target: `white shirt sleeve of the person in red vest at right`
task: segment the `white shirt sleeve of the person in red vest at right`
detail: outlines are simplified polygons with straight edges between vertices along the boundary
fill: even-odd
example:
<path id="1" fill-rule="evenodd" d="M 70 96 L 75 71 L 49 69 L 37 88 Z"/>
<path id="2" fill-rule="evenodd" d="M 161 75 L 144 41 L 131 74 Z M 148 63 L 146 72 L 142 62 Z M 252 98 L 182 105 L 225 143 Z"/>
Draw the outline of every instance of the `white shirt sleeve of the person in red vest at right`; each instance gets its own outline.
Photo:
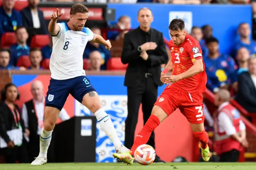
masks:
<path id="1" fill-rule="evenodd" d="M 236 128 L 233 126 L 230 118 L 228 117 L 228 115 L 226 115 L 226 113 L 220 112 L 218 116 L 218 121 L 219 125 L 223 127 L 227 135 L 230 136 L 236 133 Z"/>

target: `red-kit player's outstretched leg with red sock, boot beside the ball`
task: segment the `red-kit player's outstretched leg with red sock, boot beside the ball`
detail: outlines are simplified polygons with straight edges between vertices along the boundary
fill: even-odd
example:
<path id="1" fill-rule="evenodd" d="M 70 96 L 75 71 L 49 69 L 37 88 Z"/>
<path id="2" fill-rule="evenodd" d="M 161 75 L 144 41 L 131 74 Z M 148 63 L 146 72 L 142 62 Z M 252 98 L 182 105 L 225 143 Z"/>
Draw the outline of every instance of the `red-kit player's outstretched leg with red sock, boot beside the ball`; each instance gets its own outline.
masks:
<path id="1" fill-rule="evenodd" d="M 164 110 L 161 107 L 154 105 L 151 116 L 149 117 L 148 121 L 146 122 L 142 130 L 140 130 L 140 132 L 136 135 L 134 144 L 132 145 L 130 152 L 113 154 L 114 158 L 118 158 L 127 164 L 128 162 L 131 162 L 130 160 L 133 158 L 132 156 L 134 156 L 134 151 L 136 150 L 136 148 L 142 144 L 146 144 L 151 133 L 167 117 L 168 115 L 164 112 Z"/>

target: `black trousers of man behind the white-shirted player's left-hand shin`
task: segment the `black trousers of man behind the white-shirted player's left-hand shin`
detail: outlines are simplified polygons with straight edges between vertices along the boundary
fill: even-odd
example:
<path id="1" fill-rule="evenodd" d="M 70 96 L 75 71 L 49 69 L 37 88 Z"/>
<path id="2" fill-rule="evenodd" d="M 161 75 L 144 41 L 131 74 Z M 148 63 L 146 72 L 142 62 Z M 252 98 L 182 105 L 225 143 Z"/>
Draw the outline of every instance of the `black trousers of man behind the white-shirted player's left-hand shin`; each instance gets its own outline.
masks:
<path id="1" fill-rule="evenodd" d="M 34 135 L 35 137 L 30 138 L 30 142 L 28 143 L 27 150 L 28 150 L 28 158 L 29 162 L 33 162 L 35 158 L 38 156 L 40 152 L 40 136 Z M 54 162 L 54 149 L 53 149 L 53 141 L 47 151 L 47 162 Z"/>

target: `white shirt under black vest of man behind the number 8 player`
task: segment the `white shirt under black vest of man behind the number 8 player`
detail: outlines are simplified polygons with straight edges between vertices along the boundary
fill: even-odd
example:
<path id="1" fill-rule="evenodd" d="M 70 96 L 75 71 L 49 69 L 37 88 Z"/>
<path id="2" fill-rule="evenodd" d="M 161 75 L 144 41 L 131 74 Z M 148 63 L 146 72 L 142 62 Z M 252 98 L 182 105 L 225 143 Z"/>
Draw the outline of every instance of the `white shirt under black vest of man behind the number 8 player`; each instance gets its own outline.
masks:
<path id="1" fill-rule="evenodd" d="M 43 98 L 43 101 L 41 101 L 41 102 L 34 100 L 35 107 L 36 107 L 34 109 L 36 109 L 36 113 L 37 113 L 37 117 L 38 117 L 38 130 L 37 130 L 38 135 L 40 135 L 41 131 L 42 131 L 42 126 L 40 126 L 40 123 L 44 122 L 44 107 L 45 107 L 44 101 L 45 101 L 45 97 Z M 70 119 L 70 116 L 68 115 L 68 113 L 66 112 L 65 109 L 62 109 L 60 111 L 59 118 L 62 121 L 66 121 L 66 120 Z M 28 128 L 28 110 L 27 110 L 25 103 L 23 104 L 23 107 L 22 107 L 22 119 L 24 120 L 25 127 Z"/>

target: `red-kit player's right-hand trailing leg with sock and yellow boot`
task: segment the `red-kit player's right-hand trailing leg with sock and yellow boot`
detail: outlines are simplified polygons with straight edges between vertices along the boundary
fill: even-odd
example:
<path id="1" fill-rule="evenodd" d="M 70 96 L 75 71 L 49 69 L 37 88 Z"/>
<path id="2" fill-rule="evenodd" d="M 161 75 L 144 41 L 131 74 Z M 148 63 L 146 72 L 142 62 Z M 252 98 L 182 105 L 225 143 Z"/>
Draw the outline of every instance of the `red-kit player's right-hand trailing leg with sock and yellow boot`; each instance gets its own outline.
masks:
<path id="1" fill-rule="evenodd" d="M 201 150 L 202 150 L 202 158 L 204 161 L 209 161 L 210 160 L 210 150 L 207 145 L 208 143 L 208 133 L 204 130 L 204 123 L 200 124 L 191 124 L 192 131 L 194 134 L 194 137 L 196 140 L 200 142 Z"/>

